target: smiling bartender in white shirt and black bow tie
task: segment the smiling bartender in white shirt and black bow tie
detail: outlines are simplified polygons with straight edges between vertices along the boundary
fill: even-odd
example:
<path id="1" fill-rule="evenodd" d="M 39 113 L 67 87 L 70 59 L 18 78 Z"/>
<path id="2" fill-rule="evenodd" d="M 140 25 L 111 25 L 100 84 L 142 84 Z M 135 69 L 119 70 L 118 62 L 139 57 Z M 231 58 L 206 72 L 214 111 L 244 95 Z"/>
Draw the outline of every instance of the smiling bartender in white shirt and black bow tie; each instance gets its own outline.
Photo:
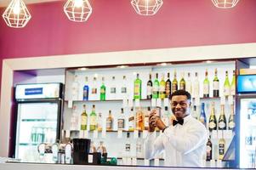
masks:
<path id="1" fill-rule="evenodd" d="M 172 125 L 167 127 L 156 110 L 151 111 L 149 135 L 145 139 L 145 158 L 152 159 L 165 150 L 165 166 L 202 167 L 208 133 L 202 122 L 190 115 L 191 94 L 177 90 L 170 99 L 176 120 L 172 120 Z M 157 138 L 153 133 L 155 127 L 162 131 Z"/>

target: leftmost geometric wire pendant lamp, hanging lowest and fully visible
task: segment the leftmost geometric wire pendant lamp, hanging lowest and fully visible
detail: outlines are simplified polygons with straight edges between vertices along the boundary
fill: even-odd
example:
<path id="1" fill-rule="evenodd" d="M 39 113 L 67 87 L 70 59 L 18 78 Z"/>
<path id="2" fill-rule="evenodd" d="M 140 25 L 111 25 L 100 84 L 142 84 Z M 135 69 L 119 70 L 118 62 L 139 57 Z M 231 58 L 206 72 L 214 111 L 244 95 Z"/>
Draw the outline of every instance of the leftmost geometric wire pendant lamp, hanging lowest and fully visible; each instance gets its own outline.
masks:
<path id="1" fill-rule="evenodd" d="M 3 13 L 3 20 L 7 26 L 22 28 L 31 20 L 31 14 L 22 0 L 12 0 Z"/>

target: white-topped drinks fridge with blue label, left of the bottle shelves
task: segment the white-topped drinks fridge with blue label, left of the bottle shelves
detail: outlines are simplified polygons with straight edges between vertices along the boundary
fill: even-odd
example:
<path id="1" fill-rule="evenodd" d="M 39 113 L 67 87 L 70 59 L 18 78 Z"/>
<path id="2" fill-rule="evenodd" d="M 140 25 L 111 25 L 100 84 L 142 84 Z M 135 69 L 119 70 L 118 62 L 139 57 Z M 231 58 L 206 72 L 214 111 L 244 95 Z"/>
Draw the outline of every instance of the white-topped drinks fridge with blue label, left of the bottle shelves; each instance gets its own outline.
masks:
<path id="1" fill-rule="evenodd" d="M 18 84 L 15 100 L 14 156 L 23 162 L 38 162 L 37 145 L 60 139 L 63 84 Z"/>

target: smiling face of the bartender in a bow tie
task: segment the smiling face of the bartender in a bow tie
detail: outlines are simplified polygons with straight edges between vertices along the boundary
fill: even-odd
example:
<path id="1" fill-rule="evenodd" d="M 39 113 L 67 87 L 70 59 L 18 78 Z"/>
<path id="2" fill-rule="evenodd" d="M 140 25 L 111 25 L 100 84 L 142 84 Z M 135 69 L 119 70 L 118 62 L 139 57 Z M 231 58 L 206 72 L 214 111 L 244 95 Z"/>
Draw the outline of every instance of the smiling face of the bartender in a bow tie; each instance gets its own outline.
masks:
<path id="1" fill-rule="evenodd" d="M 182 119 L 189 114 L 191 101 L 185 95 L 173 96 L 171 108 L 177 119 Z"/>

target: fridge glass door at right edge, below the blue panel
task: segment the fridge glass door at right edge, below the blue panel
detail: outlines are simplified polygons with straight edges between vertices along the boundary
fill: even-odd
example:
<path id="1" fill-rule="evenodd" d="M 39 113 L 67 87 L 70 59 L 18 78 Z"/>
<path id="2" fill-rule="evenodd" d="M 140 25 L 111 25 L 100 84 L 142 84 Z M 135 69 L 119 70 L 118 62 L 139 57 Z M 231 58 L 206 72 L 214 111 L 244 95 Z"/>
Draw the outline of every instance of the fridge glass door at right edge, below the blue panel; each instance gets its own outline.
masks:
<path id="1" fill-rule="evenodd" d="M 255 168 L 256 99 L 241 99 L 240 167 Z"/>

